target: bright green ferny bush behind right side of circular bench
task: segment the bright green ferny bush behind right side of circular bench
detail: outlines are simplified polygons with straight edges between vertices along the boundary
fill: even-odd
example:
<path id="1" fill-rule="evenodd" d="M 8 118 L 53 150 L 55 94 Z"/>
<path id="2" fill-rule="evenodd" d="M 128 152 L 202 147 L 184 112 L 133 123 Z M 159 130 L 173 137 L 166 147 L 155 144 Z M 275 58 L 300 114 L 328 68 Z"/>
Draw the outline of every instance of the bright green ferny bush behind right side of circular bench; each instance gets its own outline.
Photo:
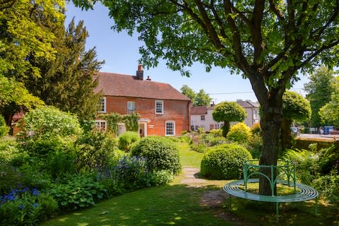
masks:
<path id="1" fill-rule="evenodd" d="M 287 150 L 285 160 L 295 162 L 297 180 L 303 184 L 311 185 L 319 177 L 319 154 L 309 150 Z"/>

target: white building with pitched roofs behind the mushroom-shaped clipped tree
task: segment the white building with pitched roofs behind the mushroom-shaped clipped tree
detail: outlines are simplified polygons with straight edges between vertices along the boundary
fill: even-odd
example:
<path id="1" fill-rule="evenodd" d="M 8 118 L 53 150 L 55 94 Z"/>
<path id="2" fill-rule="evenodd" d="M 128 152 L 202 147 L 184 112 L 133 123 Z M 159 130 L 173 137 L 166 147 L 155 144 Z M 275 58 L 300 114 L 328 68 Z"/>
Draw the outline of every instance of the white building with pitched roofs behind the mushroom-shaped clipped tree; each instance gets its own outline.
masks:
<path id="1" fill-rule="evenodd" d="M 237 100 L 237 104 L 242 106 L 247 116 L 244 123 L 247 126 L 253 126 L 260 121 L 259 117 L 259 104 L 257 102 L 251 102 L 249 100 Z M 205 131 L 211 129 L 220 129 L 223 126 L 223 122 L 217 122 L 213 120 L 214 103 L 210 107 L 196 106 L 191 107 L 191 131 L 196 131 L 198 128 L 203 128 Z"/>

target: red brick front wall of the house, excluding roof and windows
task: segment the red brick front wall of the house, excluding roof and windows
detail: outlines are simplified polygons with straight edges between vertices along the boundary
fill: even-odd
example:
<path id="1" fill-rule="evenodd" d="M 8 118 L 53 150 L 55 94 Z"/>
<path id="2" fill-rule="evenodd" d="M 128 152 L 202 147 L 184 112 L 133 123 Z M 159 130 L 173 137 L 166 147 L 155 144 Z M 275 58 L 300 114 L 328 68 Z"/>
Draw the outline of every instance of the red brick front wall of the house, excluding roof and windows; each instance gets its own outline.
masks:
<path id="1" fill-rule="evenodd" d="M 190 114 L 189 101 L 184 100 L 162 100 L 164 103 L 164 114 L 155 114 L 155 99 L 141 99 L 133 97 L 106 97 L 107 114 L 117 112 L 127 114 L 127 101 L 136 103 L 136 112 L 141 119 L 148 119 L 147 135 L 165 136 L 165 122 L 175 121 L 175 136 L 181 131 L 189 130 Z"/>

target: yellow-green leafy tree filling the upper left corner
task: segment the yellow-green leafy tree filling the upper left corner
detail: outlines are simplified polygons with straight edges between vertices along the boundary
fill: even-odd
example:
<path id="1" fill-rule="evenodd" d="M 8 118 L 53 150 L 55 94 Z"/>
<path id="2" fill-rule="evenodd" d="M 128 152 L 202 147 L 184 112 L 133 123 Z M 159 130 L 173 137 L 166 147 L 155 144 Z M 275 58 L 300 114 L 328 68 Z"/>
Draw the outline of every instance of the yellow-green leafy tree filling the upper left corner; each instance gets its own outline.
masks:
<path id="1" fill-rule="evenodd" d="M 28 74 L 40 76 L 39 69 L 27 60 L 28 55 L 44 56 L 49 61 L 54 59 L 52 41 L 55 36 L 42 22 L 48 19 L 62 25 L 64 6 L 64 0 L 0 3 L 0 113 L 8 126 L 16 112 L 43 105 L 20 81 L 28 78 Z"/>

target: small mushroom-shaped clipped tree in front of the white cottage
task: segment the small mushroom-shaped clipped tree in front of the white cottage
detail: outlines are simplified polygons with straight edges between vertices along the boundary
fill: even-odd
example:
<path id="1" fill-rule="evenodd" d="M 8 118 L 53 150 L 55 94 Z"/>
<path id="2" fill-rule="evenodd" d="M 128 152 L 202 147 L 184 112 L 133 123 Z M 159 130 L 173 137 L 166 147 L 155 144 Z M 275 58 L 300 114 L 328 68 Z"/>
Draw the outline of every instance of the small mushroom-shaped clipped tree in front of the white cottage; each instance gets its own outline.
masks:
<path id="1" fill-rule="evenodd" d="M 228 131 L 230 131 L 230 122 L 244 121 L 246 112 L 244 108 L 236 102 L 221 102 L 218 105 L 215 105 L 212 116 L 215 121 L 224 122 L 224 126 L 222 126 L 222 135 L 226 137 Z"/>

